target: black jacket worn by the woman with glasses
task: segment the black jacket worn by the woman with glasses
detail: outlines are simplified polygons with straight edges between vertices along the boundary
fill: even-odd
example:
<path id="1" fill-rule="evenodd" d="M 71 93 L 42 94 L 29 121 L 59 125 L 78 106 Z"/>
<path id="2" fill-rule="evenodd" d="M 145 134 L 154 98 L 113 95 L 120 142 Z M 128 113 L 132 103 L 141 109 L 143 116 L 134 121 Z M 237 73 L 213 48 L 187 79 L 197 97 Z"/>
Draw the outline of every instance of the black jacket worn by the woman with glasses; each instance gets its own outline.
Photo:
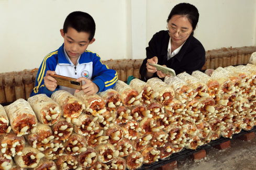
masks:
<path id="1" fill-rule="evenodd" d="M 142 80 L 144 80 L 146 75 L 147 60 L 154 56 L 158 57 L 159 65 L 166 65 L 167 67 L 174 69 L 176 75 L 183 71 L 186 71 L 191 75 L 193 71 L 202 69 L 205 64 L 205 49 L 201 42 L 190 35 L 185 44 L 181 47 L 180 52 L 167 60 L 169 41 L 170 36 L 168 31 L 160 31 L 153 35 L 153 38 L 149 42 L 149 46 L 146 48 L 147 58 L 143 60 L 140 67 Z M 156 72 L 153 77 L 158 77 Z"/>

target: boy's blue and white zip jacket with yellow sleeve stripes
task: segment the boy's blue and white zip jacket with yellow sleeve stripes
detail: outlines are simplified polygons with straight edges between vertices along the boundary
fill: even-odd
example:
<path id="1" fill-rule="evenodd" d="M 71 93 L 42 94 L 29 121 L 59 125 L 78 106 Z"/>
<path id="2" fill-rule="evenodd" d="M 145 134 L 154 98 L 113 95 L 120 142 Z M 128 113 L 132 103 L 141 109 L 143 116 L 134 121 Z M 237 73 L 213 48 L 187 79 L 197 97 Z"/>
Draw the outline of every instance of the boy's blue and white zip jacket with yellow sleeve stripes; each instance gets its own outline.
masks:
<path id="1" fill-rule="evenodd" d="M 102 64 L 101 57 L 91 51 L 85 51 L 81 54 L 79 64 L 74 66 L 70 64 L 64 54 L 64 44 L 59 50 L 54 51 L 44 57 L 43 62 L 38 70 L 35 88 L 31 91 L 30 96 L 44 93 L 51 96 L 54 91 L 49 91 L 45 84 L 43 77 L 46 76 L 46 71 L 55 71 L 57 75 L 87 79 L 93 79 L 93 82 L 99 87 L 99 92 L 113 88 L 117 81 L 117 72 L 109 69 L 107 65 Z M 85 82 L 83 81 L 83 84 Z M 66 90 L 74 94 L 75 89 L 58 86 L 56 90 Z"/>

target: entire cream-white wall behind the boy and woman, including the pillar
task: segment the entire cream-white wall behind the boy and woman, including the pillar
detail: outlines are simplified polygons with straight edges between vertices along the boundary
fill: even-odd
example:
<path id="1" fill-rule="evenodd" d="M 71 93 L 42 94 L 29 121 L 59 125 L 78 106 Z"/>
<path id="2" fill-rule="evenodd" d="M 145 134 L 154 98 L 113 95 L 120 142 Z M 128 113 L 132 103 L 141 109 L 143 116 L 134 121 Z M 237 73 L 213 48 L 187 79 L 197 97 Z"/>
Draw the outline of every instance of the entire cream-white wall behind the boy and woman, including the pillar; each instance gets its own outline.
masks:
<path id="1" fill-rule="evenodd" d="M 96 22 L 88 50 L 103 60 L 144 58 L 153 34 L 166 30 L 172 0 L 0 0 L 0 72 L 39 67 L 63 43 L 60 29 L 81 10 Z M 190 0 L 199 11 L 194 36 L 205 50 L 256 45 L 255 0 Z"/>

